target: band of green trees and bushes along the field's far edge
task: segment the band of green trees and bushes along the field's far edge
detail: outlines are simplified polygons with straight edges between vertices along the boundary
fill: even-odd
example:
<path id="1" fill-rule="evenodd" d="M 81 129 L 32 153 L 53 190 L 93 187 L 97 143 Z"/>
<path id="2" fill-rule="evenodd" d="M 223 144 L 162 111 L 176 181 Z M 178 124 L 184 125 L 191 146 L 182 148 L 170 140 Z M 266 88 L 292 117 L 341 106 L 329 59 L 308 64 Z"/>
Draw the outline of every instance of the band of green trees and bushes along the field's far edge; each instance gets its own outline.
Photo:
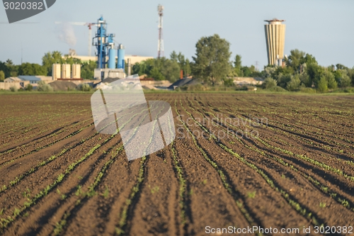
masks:
<path id="1" fill-rule="evenodd" d="M 215 34 L 202 37 L 195 45 L 195 56 L 190 61 L 179 52 L 173 51 L 169 58 L 149 59 L 132 65 L 132 74 L 143 75 L 155 80 L 169 80 L 175 82 L 181 76 L 200 79 L 205 84 L 215 86 L 224 84 L 233 86 L 234 77 L 261 77 L 265 89 L 282 88 L 297 91 L 302 88 L 315 88 L 319 91 L 333 90 L 338 87 L 354 86 L 354 67 L 348 68 L 343 64 L 323 67 L 318 64 L 313 55 L 300 50 L 291 50 L 290 56 L 285 58 L 285 67 L 272 65 L 265 66 L 262 71 L 256 67 L 243 66 L 241 55 L 230 60 L 232 53 L 230 43 Z M 60 52 L 47 52 L 42 57 L 42 65 L 23 63 L 14 65 L 11 60 L 0 62 L 0 80 L 17 75 L 52 75 L 52 64 L 67 63 L 81 64 L 81 77 L 93 79 L 93 69 L 96 62 L 81 62 L 74 57 L 64 56 Z M 127 67 L 125 67 L 127 72 Z"/>

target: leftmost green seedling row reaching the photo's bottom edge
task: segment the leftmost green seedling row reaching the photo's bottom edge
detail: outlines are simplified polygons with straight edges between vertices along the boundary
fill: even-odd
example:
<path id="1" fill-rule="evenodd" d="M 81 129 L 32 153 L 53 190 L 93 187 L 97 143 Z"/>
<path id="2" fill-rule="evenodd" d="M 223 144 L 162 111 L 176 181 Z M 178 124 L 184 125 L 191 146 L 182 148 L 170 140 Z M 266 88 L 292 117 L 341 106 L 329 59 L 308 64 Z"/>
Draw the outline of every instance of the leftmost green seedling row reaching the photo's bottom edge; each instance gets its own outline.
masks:
<path id="1" fill-rule="evenodd" d="M 132 111 L 134 112 L 134 111 Z M 142 111 L 143 112 L 143 111 Z M 139 114 L 141 114 L 142 112 L 140 112 Z M 138 114 L 135 114 L 135 116 L 137 116 Z M 135 116 L 132 116 L 130 118 L 130 120 L 132 120 L 132 118 L 134 118 Z M 147 116 L 147 115 L 146 115 Z M 144 118 L 146 118 L 146 116 Z M 122 117 L 122 116 L 120 116 Z M 144 118 L 142 120 L 144 120 Z M 119 119 L 119 118 L 118 118 Z M 118 120 L 117 119 L 117 120 Z M 128 120 L 125 124 L 122 125 L 122 127 L 119 129 L 121 130 L 122 128 L 125 127 L 125 125 L 127 123 L 130 122 L 130 120 Z M 142 123 L 142 120 L 140 121 L 140 124 Z M 139 124 L 139 125 L 140 125 Z M 138 125 L 138 126 L 139 126 Z M 137 126 L 137 128 L 138 128 Z M 132 133 L 132 136 L 128 139 L 128 142 L 129 140 L 131 140 L 133 137 L 135 137 L 135 134 L 136 134 L 136 131 L 137 131 L 137 128 L 135 128 L 135 130 L 133 130 L 133 133 Z M 67 220 L 70 216 L 72 216 L 72 211 L 77 207 L 79 206 L 79 203 L 81 203 L 81 201 L 83 201 L 84 199 L 88 198 L 88 197 L 92 197 L 92 196 L 95 196 L 96 195 L 96 187 L 98 186 L 98 184 L 101 182 L 101 179 L 103 178 L 103 175 L 105 174 L 105 171 L 110 167 L 111 164 L 113 164 L 113 162 L 115 161 L 115 157 L 117 157 L 118 153 L 122 152 L 122 150 L 124 149 L 124 146 L 123 145 L 120 145 L 120 147 L 117 148 L 116 150 L 116 153 L 112 152 L 112 157 L 108 160 L 108 162 L 105 162 L 105 164 L 103 165 L 102 169 L 101 169 L 101 172 L 98 173 L 98 175 L 96 176 L 95 178 L 95 181 L 93 182 L 93 184 L 91 184 L 88 188 L 88 191 L 85 193 L 85 192 L 82 192 L 81 191 L 81 186 L 78 186 L 78 190 L 76 191 L 76 196 L 79 196 L 79 199 L 76 201 L 76 205 L 73 206 L 72 210 L 68 211 L 67 210 L 67 213 L 65 213 L 62 217 L 61 220 L 59 220 L 59 222 L 57 222 L 56 226 L 55 226 L 55 229 L 53 230 L 53 235 L 59 235 L 62 230 L 64 230 L 64 226 L 66 225 L 67 223 Z M 103 196 L 108 196 L 108 188 L 106 187 L 106 190 L 105 190 L 105 193 L 103 193 Z"/>

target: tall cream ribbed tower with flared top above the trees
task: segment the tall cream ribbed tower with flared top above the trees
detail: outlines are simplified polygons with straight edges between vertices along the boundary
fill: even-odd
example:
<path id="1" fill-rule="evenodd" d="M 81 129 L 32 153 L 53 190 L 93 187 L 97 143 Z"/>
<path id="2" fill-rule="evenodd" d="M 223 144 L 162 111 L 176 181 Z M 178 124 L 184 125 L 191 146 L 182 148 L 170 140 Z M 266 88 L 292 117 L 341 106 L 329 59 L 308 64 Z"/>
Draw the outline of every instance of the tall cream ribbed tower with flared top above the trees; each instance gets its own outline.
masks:
<path id="1" fill-rule="evenodd" d="M 265 42 L 267 44 L 268 64 L 282 66 L 285 46 L 285 24 L 284 20 L 265 20 L 268 22 L 264 26 Z"/>

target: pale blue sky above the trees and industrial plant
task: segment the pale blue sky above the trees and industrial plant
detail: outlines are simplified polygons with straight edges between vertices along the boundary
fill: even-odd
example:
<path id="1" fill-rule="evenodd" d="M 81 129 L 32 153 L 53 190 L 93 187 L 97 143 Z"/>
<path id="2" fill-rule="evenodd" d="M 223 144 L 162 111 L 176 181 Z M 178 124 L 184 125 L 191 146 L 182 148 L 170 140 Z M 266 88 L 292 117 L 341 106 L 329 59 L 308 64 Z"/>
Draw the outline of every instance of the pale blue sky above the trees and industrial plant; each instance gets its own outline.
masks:
<path id="1" fill-rule="evenodd" d="M 62 26 L 55 21 L 96 22 L 101 15 L 108 22 L 108 33 L 125 45 L 129 55 L 157 55 L 157 5 L 164 5 L 164 55 L 173 50 L 190 58 L 202 36 L 215 33 L 231 43 L 232 60 L 242 56 L 244 65 L 267 64 L 264 20 L 285 20 L 285 55 L 299 49 L 314 55 L 319 64 L 341 63 L 354 66 L 354 1 L 166 1 L 166 0 L 57 0 L 47 11 L 22 22 L 6 24 L 0 8 L 0 60 L 41 63 L 45 52 L 67 53 L 72 47 L 78 55 L 87 55 L 88 29 L 72 26 L 75 45 L 60 40 Z M 93 33 L 96 27 L 93 27 Z M 70 30 L 70 29 L 69 29 Z"/>

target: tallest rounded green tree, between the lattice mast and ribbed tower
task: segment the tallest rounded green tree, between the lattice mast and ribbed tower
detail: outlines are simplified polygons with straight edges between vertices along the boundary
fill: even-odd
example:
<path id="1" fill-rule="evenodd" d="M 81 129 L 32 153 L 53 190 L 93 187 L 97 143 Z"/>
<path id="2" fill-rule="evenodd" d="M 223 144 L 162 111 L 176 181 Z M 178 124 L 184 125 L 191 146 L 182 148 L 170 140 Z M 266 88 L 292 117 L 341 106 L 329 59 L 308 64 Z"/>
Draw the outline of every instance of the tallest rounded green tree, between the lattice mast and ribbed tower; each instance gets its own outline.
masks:
<path id="1" fill-rule="evenodd" d="M 230 64 L 230 43 L 215 34 L 202 37 L 195 45 L 196 53 L 193 57 L 193 75 L 203 79 L 213 86 L 227 77 Z"/>

